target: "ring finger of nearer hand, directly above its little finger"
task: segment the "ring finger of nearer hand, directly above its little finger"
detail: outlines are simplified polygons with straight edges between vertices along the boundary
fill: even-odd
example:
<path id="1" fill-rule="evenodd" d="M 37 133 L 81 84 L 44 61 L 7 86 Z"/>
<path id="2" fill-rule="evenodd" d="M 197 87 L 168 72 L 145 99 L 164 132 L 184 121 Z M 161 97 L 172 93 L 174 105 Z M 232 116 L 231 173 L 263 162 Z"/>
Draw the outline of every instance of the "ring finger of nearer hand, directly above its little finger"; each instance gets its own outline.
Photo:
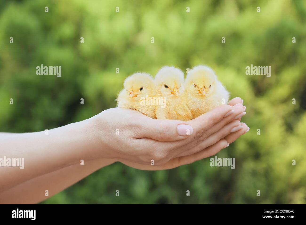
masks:
<path id="1" fill-rule="evenodd" d="M 194 154 L 196 152 L 200 152 L 204 148 L 207 148 L 208 146 L 211 146 L 211 145 L 217 143 L 220 139 L 226 137 L 230 133 L 234 133 L 234 132 L 236 132 L 236 131 L 238 131 L 242 128 L 243 128 L 243 126 L 241 125 L 241 123 L 238 120 L 233 120 L 232 122 L 223 126 L 217 132 L 211 134 L 209 137 L 207 137 L 206 140 L 200 141 L 200 142 L 194 144 L 194 147 L 188 149 L 187 151 L 176 154 L 175 157 L 188 156 L 188 155 Z"/>

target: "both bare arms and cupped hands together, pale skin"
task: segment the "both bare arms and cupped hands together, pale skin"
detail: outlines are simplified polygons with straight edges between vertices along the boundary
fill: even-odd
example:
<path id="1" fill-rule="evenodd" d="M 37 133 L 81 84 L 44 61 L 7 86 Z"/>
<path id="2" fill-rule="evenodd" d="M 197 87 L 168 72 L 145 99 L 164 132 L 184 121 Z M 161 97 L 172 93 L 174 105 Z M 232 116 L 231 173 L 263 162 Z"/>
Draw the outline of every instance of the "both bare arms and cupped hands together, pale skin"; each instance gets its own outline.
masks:
<path id="1" fill-rule="evenodd" d="M 241 102 L 234 98 L 187 122 L 112 108 L 48 135 L 0 133 L 0 157 L 24 158 L 24 169 L 0 167 L 5 181 L 0 183 L 0 203 L 38 203 L 117 161 L 140 170 L 163 170 L 213 156 L 248 131 L 240 122 L 245 111 Z M 184 125 L 190 126 L 189 134 Z"/>

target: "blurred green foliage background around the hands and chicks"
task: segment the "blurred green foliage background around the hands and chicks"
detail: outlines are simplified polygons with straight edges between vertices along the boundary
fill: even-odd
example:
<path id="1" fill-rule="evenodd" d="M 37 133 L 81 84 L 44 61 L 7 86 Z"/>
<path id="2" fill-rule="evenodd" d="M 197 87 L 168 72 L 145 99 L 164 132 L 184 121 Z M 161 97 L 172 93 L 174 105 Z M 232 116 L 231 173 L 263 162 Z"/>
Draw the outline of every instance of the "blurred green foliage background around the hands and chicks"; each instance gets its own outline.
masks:
<path id="1" fill-rule="evenodd" d="M 114 163 L 43 203 L 306 203 L 305 24 L 303 0 L 0 0 L 0 131 L 84 120 L 115 107 L 134 72 L 206 64 L 247 107 L 250 131 L 217 154 L 234 170 L 209 158 L 166 171 Z M 62 77 L 36 75 L 41 64 Z M 251 64 L 271 77 L 246 75 Z"/>

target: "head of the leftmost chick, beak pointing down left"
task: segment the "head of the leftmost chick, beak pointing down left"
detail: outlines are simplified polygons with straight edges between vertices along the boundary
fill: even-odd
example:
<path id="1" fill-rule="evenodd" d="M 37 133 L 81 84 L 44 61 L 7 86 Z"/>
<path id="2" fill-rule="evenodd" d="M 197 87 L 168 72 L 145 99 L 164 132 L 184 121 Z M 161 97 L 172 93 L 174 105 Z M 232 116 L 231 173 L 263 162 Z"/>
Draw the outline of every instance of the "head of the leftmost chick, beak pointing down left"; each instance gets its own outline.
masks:
<path id="1" fill-rule="evenodd" d="M 139 101 L 140 98 L 151 96 L 155 92 L 153 78 L 148 73 L 134 73 L 124 81 L 126 96 L 131 101 Z"/>

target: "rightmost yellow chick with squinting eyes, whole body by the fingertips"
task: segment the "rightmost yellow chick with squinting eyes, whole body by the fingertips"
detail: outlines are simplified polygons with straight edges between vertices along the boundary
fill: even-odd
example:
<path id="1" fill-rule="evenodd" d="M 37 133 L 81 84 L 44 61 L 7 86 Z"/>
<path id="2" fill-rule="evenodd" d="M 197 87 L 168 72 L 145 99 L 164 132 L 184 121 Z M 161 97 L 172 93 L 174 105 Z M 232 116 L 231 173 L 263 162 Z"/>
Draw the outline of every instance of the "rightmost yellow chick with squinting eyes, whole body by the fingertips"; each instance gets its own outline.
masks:
<path id="1" fill-rule="evenodd" d="M 229 99 L 229 92 L 208 66 L 192 68 L 187 74 L 185 88 L 188 95 L 187 105 L 192 118 L 196 118 L 221 104 L 227 104 Z"/>

